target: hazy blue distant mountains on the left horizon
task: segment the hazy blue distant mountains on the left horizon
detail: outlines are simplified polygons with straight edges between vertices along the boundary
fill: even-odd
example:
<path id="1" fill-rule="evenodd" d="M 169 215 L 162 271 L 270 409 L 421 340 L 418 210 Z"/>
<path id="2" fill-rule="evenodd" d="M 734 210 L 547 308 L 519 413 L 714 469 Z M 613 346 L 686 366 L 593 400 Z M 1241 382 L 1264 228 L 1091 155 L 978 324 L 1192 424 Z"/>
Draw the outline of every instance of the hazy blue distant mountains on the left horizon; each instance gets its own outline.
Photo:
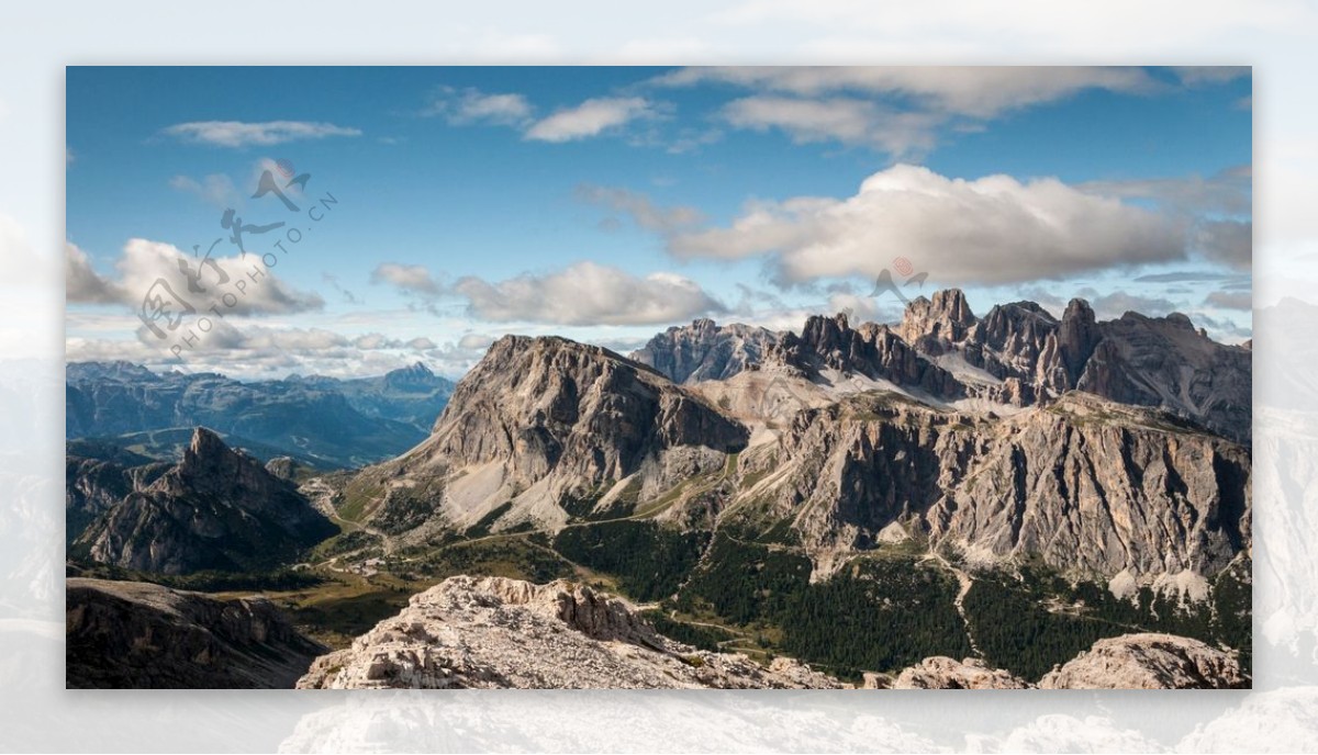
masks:
<path id="1" fill-rule="evenodd" d="M 261 459 L 360 466 L 424 440 L 452 390 L 451 381 L 420 364 L 374 378 L 240 382 L 215 373 L 158 374 L 128 362 L 72 362 L 65 431 L 70 439 L 117 439 L 138 453 L 177 459 L 191 428 L 203 426 Z"/>

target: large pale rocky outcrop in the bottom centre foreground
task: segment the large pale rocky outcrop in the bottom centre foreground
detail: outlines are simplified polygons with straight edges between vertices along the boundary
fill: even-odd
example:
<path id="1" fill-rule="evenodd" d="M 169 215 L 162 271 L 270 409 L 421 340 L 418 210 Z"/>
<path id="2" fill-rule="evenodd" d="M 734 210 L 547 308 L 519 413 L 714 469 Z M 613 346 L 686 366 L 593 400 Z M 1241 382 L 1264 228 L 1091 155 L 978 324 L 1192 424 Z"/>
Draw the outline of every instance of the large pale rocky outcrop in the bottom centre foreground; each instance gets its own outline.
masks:
<path id="1" fill-rule="evenodd" d="M 676 643 L 589 588 L 465 576 L 413 596 L 298 681 L 301 689 L 840 686 L 787 659 L 766 668 Z"/>

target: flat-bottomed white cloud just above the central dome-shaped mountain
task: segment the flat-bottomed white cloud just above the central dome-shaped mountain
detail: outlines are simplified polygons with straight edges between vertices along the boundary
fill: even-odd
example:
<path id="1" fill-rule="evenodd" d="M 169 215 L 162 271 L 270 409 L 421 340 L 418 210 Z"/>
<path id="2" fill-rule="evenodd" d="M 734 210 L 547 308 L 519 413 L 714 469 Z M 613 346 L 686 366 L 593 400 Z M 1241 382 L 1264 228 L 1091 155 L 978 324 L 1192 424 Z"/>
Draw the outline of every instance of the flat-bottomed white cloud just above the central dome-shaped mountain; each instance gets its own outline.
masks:
<path id="1" fill-rule="evenodd" d="M 471 314 L 492 322 L 560 325 L 664 324 L 722 312 L 724 306 L 697 283 L 671 273 L 638 278 L 606 265 L 579 262 L 564 270 L 523 274 L 497 283 L 461 278 L 453 291 Z"/>

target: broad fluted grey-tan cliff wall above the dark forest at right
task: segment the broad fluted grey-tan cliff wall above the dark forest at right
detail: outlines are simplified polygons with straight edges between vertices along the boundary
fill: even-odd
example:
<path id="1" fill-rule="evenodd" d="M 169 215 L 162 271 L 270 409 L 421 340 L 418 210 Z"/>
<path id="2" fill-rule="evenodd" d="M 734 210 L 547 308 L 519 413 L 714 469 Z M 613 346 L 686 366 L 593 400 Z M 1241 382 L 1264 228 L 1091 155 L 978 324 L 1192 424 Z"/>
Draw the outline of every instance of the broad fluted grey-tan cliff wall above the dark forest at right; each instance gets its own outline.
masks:
<path id="1" fill-rule="evenodd" d="M 1246 448 L 1085 394 L 996 420 L 863 395 L 797 414 L 747 497 L 825 572 L 899 524 L 981 560 L 1211 574 L 1248 547 L 1248 477 Z"/>

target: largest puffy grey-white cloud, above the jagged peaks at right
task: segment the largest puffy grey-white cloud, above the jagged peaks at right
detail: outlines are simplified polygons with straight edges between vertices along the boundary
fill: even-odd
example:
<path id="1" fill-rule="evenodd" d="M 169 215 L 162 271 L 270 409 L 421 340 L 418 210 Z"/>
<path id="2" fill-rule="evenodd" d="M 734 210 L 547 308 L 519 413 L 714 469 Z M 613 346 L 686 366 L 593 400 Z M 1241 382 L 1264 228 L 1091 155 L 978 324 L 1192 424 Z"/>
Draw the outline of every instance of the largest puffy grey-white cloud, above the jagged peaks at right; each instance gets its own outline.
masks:
<path id="1" fill-rule="evenodd" d="M 996 285 L 1180 260 L 1186 229 L 1052 178 L 966 181 L 898 165 L 851 198 L 755 203 L 731 225 L 680 233 L 668 248 L 684 258 L 763 256 L 783 283 L 875 277 L 903 256 L 941 285 Z"/>

